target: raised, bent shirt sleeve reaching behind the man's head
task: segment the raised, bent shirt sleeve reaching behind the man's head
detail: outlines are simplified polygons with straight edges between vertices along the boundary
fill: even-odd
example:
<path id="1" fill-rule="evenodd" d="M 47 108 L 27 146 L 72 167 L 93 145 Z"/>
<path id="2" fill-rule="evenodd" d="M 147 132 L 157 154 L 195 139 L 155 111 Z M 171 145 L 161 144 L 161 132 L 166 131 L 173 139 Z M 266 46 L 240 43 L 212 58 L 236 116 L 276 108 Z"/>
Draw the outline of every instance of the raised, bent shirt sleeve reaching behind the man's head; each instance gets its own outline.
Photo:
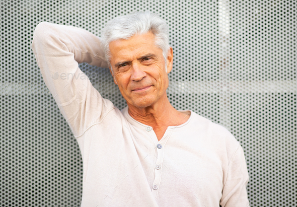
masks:
<path id="1" fill-rule="evenodd" d="M 108 67 L 100 37 L 78 27 L 41 22 L 34 30 L 32 50 L 43 80 L 75 137 L 113 108 L 79 68 L 81 62 Z"/>

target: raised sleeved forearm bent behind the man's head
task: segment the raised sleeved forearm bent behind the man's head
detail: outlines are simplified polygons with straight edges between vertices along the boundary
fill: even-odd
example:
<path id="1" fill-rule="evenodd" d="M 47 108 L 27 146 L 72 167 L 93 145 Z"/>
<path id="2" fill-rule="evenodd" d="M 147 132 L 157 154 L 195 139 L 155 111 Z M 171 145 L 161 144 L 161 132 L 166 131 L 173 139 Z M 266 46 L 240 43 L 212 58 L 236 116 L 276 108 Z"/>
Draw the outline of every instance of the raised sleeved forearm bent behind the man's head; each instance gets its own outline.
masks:
<path id="1" fill-rule="evenodd" d="M 108 67 L 101 38 L 78 27 L 41 22 L 34 31 L 32 49 L 35 55 L 55 58 L 68 51 L 78 63 Z"/>

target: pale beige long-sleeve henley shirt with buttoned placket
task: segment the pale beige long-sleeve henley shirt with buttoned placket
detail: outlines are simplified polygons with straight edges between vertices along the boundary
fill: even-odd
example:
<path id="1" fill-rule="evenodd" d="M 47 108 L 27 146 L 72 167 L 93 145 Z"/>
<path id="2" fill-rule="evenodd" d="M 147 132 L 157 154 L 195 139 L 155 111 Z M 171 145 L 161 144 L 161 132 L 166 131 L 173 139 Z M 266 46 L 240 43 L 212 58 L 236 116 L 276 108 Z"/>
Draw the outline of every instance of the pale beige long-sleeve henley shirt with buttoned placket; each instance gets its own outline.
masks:
<path id="1" fill-rule="evenodd" d="M 187 122 L 169 126 L 158 141 L 154 128 L 104 99 L 80 70 L 81 62 L 107 67 L 100 43 L 84 29 L 47 22 L 32 42 L 82 153 L 82 206 L 247 207 L 249 175 L 235 137 L 186 110 Z"/>

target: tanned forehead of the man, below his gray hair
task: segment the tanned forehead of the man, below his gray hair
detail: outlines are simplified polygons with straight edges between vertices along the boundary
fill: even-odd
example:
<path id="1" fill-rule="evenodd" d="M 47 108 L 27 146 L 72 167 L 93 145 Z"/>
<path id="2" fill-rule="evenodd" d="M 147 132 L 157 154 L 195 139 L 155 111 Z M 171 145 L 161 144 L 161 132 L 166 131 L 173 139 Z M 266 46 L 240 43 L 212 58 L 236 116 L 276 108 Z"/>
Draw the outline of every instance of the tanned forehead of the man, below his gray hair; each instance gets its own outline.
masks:
<path id="1" fill-rule="evenodd" d="M 109 49 L 111 62 L 130 61 L 129 58 L 137 58 L 146 53 L 158 53 L 161 50 L 155 45 L 155 35 L 152 32 L 134 35 L 128 40 L 111 41 Z"/>

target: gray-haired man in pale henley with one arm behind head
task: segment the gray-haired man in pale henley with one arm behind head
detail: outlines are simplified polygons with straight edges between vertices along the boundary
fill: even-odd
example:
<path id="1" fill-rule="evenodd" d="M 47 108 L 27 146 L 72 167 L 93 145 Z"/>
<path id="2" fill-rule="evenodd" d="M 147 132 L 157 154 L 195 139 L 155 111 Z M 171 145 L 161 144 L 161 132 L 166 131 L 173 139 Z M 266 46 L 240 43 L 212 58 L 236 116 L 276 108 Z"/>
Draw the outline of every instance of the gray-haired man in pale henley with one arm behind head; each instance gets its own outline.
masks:
<path id="1" fill-rule="evenodd" d="M 102 38 L 41 22 L 32 49 L 80 146 L 82 206 L 249 204 L 239 142 L 226 128 L 176 110 L 168 100 L 173 50 L 168 26 L 156 14 L 117 17 Z M 88 79 L 78 78 L 81 62 L 108 66 L 127 107 L 120 111 Z"/>

